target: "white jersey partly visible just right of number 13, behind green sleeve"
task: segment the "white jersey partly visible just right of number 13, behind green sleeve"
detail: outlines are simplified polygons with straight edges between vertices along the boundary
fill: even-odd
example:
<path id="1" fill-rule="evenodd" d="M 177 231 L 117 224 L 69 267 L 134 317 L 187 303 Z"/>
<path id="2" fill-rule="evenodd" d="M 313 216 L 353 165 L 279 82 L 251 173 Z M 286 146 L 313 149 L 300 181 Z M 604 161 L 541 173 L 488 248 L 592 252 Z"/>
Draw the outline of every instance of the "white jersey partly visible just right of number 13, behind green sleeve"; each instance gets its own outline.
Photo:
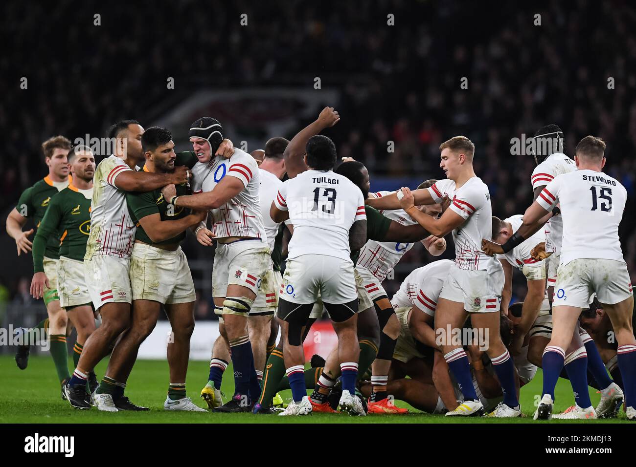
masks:
<path id="1" fill-rule="evenodd" d="M 393 191 L 378 191 L 373 193 L 376 198 L 382 198 Z M 417 224 L 403 209 L 381 210 L 380 213 L 403 226 Z M 368 240 L 360 250 L 356 267 L 364 267 L 380 282 L 384 281 L 404 254 L 413 248 L 415 243 L 394 243 L 391 241 Z"/>

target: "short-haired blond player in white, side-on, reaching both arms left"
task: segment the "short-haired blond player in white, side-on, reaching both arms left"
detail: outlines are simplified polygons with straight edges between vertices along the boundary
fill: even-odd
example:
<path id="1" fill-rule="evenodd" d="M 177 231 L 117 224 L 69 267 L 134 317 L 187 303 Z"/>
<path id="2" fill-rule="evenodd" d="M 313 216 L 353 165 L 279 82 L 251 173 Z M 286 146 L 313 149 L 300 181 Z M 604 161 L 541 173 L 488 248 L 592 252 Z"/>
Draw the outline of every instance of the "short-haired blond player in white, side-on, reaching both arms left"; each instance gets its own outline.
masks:
<path id="1" fill-rule="evenodd" d="M 521 409 L 516 397 L 513 360 L 499 335 L 499 304 L 504 274 L 499 261 L 488 257 L 480 248 L 481 238 L 492 233 L 492 209 L 488 187 L 476 177 L 473 170 L 474 144 L 466 137 L 455 137 L 441 146 L 440 167 L 447 180 L 440 180 L 432 187 L 416 190 L 403 188 L 403 198 L 391 195 L 370 200 L 368 203 L 380 209 L 402 207 L 429 233 L 441 237 L 453 233 L 455 241 L 455 266 L 446 278 L 439 295 L 436 311 L 436 329 L 461 328 L 471 313 L 473 327 L 488 331 L 488 356 L 493 362 L 504 392 L 504 402 L 493 412 L 496 417 L 518 417 Z M 400 194 L 400 192 L 398 192 Z M 451 204 L 440 219 L 420 212 L 415 205 L 440 203 L 444 198 Z M 483 237 L 487 235 L 487 237 Z M 445 360 L 464 391 L 464 403 L 448 412 L 450 416 L 483 414 L 471 382 L 471 372 L 464 349 L 453 344 L 450 336 L 443 340 Z"/>

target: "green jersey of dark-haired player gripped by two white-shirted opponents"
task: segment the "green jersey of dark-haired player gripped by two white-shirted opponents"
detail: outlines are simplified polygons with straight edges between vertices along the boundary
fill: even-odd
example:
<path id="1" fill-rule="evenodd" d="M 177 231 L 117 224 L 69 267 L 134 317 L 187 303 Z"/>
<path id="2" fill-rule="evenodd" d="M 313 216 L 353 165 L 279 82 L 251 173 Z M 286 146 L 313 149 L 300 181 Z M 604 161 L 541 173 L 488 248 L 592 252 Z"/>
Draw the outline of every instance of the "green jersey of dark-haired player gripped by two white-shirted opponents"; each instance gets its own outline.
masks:
<path id="1" fill-rule="evenodd" d="M 197 162 L 197 156 L 193 151 L 184 151 L 177 152 L 177 158 L 174 161 L 174 165 L 185 165 L 192 168 Z M 142 170 L 148 172 L 145 165 Z M 192 194 L 189 184 L 179 185 L 176 188 L 177 196 Z M 182 232 L 168 240 L 155 242 L 150 240 L 150 237 L 146 231 L 144 231 L 144 227 L 142 227 L 139 223 L 139 219 L 142 219 L 142 217 L 156 213 L 160 215 L 161 220 L 182 219 L 183 217 L 186 217 L 186 215 L 190 214 L 190 209 L 169 205 L 168 201 L 169 200 L 163 199 L 163 194 L 160 189 L 148 191 L 147 193 L 129 192 L 126 194 L 126 203 L 128 205 L 130 218 L 137 225 L 135 240 L 143 241 L 144 243 L 148 243 L 148 245 L 158 246 L 180 243 L 184 238 L 186 238 L 186 233 Z"/>

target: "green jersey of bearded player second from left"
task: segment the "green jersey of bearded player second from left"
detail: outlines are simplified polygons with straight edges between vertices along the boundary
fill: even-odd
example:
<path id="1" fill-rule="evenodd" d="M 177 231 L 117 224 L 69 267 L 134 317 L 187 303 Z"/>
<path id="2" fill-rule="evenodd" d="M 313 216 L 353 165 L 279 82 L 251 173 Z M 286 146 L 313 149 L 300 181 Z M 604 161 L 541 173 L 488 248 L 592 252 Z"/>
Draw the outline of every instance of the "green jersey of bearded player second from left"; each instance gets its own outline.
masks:
<path id="1" fill-rule="evenodd" d="M 93 189 L 79 191 L 69 185 L 55 194 L 48 203 L 48 210 L 33 240 L 33 270 L 44 272 L 43 260 L 48 239 L 62 236 L 59 243 L 59 255 L 83 261 L 86 254 L 86 241 L 90 234 L 90 201 Z M 48 257 L 48 255 L 46 255 Z"/>

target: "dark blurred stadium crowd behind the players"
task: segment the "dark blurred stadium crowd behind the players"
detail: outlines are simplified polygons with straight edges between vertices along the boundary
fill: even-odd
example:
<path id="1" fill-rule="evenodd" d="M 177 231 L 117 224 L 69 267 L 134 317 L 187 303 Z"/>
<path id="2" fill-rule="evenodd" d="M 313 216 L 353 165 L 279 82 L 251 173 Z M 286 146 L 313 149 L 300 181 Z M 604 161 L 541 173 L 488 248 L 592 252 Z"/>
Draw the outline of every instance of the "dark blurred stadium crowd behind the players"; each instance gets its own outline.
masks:
<path id="1" fill-rule="evenodd" d="M 313 93 L 320 77 L 323 88 L 341 96 L 324 103 L 342 115 L 328 134 L 340 156 L 368 166 L 371 189 L 374 177 L 392 177 L 396 187 L 406 178 L 443 177 L 439 143 L 463 134 L 476 144 L 476 172 L 502 219 L 532 200 L 534 161 L 513 156 L 511 138 L 556 123 L 573 156 L 581 137 L 602 137 L 606 171 L 630 196 L 620 234 L 636 279 L 636 10 L 627 1 L 204 6 L 183 0 L 97 7 L 65 0 L 28 8 L 23 15 L 24 3 L 0 4 L 3 219 L 22 190 L 45 175 L 39 144 L 51 135 L 103 135 L 120 118 L 149 126 L 197 88 L 288 86 Z M 242 13 L 247 25 L 240 24 Z M 394 26 L 387 25 L 389 14 Z M 27 90 L 19 87 L 23 76 Z M 168 76 L 175 78 L 174 90 L 166 88 Z M 460 88 L 463 77 L 467 89 Z M 298 128 L 306 123 L 299 119 Z M 389 141 L 394 152 L 387 152 Z M 401 266 L 418 267 L 424 255 L 413 248 Z M 31 272 L 0 271 L 0 302 L 27 301 Z M 405 275 L 398 271 L 387 292 Z M 205 304 L 200 308 L 198 315 L 211 315 Z"/>

